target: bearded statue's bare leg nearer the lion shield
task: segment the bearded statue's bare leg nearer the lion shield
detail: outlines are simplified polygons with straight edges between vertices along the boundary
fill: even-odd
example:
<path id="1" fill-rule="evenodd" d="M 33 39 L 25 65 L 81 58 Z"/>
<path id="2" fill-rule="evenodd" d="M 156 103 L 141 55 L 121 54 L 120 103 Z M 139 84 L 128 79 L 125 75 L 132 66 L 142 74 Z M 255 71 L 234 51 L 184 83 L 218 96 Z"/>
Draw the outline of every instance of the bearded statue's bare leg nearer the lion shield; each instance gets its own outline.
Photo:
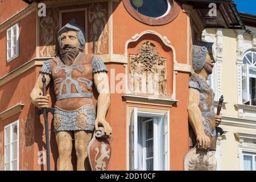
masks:
<path id="1" fill-rule="evenodd" d="M 89 171 L 89 159 L 87 157 L 87 146 L 92 139 L 92 132 L 75 131 L 75 148 L 77 156 L 77 171 Z"/>

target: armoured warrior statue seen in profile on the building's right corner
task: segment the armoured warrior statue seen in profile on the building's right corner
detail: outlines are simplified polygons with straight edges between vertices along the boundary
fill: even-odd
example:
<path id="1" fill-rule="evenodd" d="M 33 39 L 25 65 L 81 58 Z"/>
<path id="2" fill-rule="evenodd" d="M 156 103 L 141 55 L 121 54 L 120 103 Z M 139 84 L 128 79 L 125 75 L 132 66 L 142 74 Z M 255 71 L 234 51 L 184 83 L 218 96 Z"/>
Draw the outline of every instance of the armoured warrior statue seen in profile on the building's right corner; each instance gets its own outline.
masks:
<path id="1" fill-rule="evenodd" d="M 189 80 L 189 140 L 190 147 L 205 151 L 205 156 L 214 156 L 216 151 L 217 133 L 215 127 L 220 125 L 221 116 L 214 114 L 214 93 L 207 84 L 215 63 L 213 43 L 196 41 L 193 44 L 193 73 Z M 214 155 L 210 155 L 210 153 Z M 216 162 L 210 166 L 208 159 L 200 155 L 189 163 L 189 170 L 216 170 Z M 200 164 L 200 165 L 199 165 Z"/>

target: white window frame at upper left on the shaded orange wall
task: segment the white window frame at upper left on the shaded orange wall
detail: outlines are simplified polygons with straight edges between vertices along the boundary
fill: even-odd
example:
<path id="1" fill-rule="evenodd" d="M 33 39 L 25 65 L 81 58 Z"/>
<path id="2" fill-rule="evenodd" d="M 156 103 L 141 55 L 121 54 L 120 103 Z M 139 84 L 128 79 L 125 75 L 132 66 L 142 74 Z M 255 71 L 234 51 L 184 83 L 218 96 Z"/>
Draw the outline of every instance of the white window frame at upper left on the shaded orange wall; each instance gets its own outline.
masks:
<path id="1" fill-rule="evenodd" d="M 16 54 L 14 54 L 14 28 L 16 27 Z M 11 32 L 11 37 L 9 37 L 9 31 Z M 8 41 L 10 40 L 10 45 Z M 11 50 L 11 56 L 9 57 L 8 51 Z M 14 60 L 16 57 L 19 56 L 19 23 L 14 24 L 6 31 L 6 60 L 9 63 L 11 60 Z"/>

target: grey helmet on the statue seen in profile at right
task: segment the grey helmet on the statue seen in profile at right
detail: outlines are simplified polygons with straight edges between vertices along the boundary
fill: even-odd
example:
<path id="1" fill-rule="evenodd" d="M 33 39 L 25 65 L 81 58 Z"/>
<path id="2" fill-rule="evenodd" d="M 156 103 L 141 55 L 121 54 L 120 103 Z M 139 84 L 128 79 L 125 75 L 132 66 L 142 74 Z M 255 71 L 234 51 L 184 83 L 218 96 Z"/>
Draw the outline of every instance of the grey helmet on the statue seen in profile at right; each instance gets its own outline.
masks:
<path id="1" fill-rule="evenodd" d="M 193 42 L 193 70 L 198 71 L 204 67 L 207 53 L 214 59 L 213 43 L 196 40 Z"/>

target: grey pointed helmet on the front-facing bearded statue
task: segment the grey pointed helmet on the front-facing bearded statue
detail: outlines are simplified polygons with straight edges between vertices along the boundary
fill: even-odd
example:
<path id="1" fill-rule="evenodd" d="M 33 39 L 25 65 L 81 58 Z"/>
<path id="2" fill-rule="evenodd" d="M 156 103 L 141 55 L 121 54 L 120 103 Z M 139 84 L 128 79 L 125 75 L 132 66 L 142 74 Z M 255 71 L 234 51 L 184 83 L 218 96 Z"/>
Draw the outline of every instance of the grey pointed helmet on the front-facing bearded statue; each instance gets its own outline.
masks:
<path id="1" fill-rule="evenodd" d="M 70 22 L 68 22 L 64 27 L 60 28 L 60 30 L 58 32 L 59 46 L 61 47 L 60 35 L 63 32 L 67 32 L 67 31 L 76 31 L 77 32 L 77 38 L 79 40 L 79 49 L 84 50 L 84 46 L 85 46 L 85 32 L 84 32 L 84 29 L 81 28 L 76 23 L 75 18 L 73 18 Z"/>

